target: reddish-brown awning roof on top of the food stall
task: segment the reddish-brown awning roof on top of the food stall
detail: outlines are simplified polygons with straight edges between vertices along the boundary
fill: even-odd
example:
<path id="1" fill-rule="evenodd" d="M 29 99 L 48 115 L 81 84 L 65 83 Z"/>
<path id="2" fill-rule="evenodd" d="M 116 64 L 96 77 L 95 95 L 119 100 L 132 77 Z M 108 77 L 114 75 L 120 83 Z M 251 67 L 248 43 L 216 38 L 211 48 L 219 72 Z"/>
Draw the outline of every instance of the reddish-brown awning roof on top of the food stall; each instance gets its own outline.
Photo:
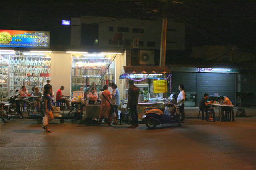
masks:
<path id="1" fill-rule="evenodd" d="M 124 73 L 126 74 L 162 74 L 171 73 L 168 67 L 158 66 L 124 66 Z"/>

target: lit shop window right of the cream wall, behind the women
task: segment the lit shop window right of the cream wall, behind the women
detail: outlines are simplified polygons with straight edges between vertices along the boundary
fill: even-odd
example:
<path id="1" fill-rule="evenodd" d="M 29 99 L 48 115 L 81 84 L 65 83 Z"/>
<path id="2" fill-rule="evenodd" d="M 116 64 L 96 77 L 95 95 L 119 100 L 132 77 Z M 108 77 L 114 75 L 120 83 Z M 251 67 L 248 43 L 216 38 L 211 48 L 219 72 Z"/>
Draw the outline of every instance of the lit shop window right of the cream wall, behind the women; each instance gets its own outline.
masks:
<path id="1" fill-rule="evenodd" d="M 106 82 L 114 82 L 116 54 L 72 54 L 72 91 L 95 84 L 99 91 Z"/>

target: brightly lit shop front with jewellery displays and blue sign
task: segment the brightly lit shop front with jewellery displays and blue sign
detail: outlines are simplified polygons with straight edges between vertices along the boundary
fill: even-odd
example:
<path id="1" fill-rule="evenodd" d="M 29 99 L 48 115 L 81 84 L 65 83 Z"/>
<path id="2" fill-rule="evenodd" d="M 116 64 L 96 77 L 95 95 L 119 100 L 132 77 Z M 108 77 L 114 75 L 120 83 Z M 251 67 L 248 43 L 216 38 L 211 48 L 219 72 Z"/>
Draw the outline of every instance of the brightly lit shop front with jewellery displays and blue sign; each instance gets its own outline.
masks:
<path id="1" fill-rule="evenodd" d="M 115 49 L 50 48 L 46 31 L 0 30 L 0 100 L 21 86 L 28 92 L 37 86 L 42 92 L 47 80 L 55 93 L 64 86 L 63 95 L 91 84 L 97 90 L 108 82 L 122 88 L 118 76 L 125 61 L 125 52 Z"/>

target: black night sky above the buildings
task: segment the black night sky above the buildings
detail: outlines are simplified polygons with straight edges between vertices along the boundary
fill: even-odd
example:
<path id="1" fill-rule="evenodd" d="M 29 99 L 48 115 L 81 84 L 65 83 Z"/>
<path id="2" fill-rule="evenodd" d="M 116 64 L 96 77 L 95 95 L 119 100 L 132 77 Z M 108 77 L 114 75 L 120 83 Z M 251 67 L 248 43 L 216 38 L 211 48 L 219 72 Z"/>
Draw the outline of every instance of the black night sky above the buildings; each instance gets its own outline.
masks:
<path id="1" fill-rule="evenodd" d="M 61 20 L 94 15 L 154 19 L 162 16 L 158 0 L 1 0 L 0 29 L 52 32 L 52 44 L 69 44 L 70 27 Z M 186 23 L 186 45 L 228 44 L 252 50 L 256 45 L 256 1 L 183 0 L 168 7 L 170 18 Z M 158 13 L 152 13 L 158 9 Z"/>

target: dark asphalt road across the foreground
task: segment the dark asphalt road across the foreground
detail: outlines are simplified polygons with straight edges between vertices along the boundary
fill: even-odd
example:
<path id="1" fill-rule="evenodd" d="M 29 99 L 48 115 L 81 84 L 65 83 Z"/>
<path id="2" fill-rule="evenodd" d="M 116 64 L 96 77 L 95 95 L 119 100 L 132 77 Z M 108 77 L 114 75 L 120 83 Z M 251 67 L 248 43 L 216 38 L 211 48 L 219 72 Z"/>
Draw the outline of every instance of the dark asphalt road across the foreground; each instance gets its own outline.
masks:
<path id="1" fill-rule="evenodd" d="M 256 117 L 129 129 L 0 120 L 0 169 L 256 169 Z"/>

